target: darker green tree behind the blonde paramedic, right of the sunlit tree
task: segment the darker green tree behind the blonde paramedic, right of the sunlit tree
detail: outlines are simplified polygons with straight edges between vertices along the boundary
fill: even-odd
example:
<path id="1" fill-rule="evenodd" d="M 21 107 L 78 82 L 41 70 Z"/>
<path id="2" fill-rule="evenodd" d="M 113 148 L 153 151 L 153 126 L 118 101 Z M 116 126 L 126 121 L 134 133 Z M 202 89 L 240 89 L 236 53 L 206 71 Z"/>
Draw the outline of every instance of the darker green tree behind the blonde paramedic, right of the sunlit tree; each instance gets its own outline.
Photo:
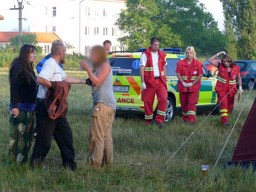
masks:
<path id="1" fill-rule="evenodd" d="M 183 49 L 194 46 L 196 52 L 204 55 L 225 49 L 226 36 L 219 30 L 212 14 L 204 11 L 204 4 L 198 0 L 169 0 L 165 6 L 177 20 L 170 23 L 170 27 L 180 34 Z"/>

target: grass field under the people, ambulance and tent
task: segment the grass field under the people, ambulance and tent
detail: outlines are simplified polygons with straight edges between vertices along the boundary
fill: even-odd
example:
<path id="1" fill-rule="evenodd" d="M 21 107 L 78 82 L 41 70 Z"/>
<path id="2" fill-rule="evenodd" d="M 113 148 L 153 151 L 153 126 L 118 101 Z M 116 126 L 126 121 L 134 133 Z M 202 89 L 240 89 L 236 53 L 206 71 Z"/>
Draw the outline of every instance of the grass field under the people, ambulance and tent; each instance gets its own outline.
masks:
<path id="1" fill-rule="evenodd" d="M 67 71 L 67 74 L 78 78 L 86 76 L 86 73 L 77 71 Z M 222 127 L 219 116 L 210 116 L 160 172 L 169 156 L 209 112 L 197 114 L 194 126 L 184 124 L 181 116 L 176 115 L 161 130 L 146 127 L 143 118 L 138 116 L 116 117 L 113 124 L 113 167 L 89 168 L 91 91 L 85 85 L 72 85 L 67 117 L 73 131 L 78 169 L 70 172 L 62 170 L 60 151 L 55 141 L 52 141 L 52 148 L 41 169 L 31 170 L 29 164 L 7 163 L 10 93 L 6 69 L 0 69 L 0 82 L 0 191 L 256 191 L 256 174 L 252 170 L 220 168 L 233 154 L 256 96 L 255 90 L 249 96 L 215 170 L 212 167 L 232 128 Z M 239 103 L 235 102 L 231 124 L 235 123 L 248 92 L 244 91 Z M 201 165 L 204 164 L 210 165 L 206 177 L 201 173 Z"/>

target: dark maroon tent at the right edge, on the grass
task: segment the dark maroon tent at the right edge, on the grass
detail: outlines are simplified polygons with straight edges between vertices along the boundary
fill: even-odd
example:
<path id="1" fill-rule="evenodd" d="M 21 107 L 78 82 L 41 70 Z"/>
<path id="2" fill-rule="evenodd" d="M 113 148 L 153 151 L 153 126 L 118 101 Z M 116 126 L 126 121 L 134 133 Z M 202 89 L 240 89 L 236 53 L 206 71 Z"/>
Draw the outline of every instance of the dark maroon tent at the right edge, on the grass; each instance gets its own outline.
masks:
<path id="1" fill-rule="evenodd" d="M 253 102 L 251 111 L 247 116 L 241 131 L 240 137 L 237 141 L 232 160 L 228 162 L 227 166 L 240 165 L 248 168 L 253 166 L 256 170 L 256 98 Z"/>

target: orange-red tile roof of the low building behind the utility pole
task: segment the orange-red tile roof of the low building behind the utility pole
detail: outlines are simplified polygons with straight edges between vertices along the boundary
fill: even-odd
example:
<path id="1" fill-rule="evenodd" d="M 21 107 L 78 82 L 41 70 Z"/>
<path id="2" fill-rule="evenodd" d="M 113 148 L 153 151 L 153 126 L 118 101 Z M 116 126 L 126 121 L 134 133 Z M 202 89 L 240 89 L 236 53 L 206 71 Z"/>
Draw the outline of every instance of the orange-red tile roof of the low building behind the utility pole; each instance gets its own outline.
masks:
<path id="1" fill-rule="evenodd" d="M 22 35 L 25 35 L 26 33 L 33 33 L 33 32 L 22 32 Z M 36 34 L 36 39 L 38 43 L 52 43 L 53 40 L 60 39 L 60 37 L 58 37 L 54 32 L 53 33 L 35 32 L 35 34 Z M 10 39 L 18 35 L 19 35 L 19 32 L 0 32 L 0 42 L 10 43 Z"/>

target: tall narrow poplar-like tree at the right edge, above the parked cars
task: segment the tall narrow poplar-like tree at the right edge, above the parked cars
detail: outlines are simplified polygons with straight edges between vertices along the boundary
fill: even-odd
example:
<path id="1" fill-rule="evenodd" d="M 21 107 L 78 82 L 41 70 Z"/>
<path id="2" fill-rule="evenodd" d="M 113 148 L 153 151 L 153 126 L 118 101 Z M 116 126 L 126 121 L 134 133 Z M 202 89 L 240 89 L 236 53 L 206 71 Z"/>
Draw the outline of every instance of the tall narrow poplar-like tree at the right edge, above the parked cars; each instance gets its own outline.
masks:
<path id="1" fill-rule="evenodd" d="M 256 0 L 220 0 L 226 20 L 228 41 L 237 40 L 242 59 L 256 59 Z"/>

